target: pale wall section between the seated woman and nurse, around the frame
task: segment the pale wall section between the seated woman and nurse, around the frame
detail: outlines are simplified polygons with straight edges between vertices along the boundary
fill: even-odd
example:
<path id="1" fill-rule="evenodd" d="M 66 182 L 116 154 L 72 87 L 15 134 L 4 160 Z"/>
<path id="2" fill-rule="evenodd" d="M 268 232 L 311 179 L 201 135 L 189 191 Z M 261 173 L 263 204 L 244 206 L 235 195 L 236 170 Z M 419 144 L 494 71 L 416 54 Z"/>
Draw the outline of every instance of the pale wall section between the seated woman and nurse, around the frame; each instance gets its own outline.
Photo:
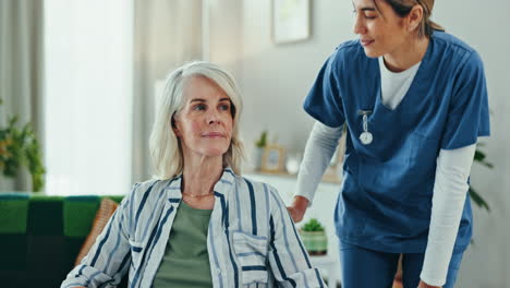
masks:
<path id="1" fill-rule="evenodd" d="M 350 1 L 313 2 L 312 38 L 288 45 L 271 41 L 271 1 L 243 2 L 240 83 L 245 104 L 242 131 L 248 148 L 264 129 L 269 130 L 270 140 L 277 136 L 291 152 L 304 148 L 313 121 L 302 109 L 303 99 L 327 56 L 352 37 L 350 28 L 341 28 L 350 27 Z"/>

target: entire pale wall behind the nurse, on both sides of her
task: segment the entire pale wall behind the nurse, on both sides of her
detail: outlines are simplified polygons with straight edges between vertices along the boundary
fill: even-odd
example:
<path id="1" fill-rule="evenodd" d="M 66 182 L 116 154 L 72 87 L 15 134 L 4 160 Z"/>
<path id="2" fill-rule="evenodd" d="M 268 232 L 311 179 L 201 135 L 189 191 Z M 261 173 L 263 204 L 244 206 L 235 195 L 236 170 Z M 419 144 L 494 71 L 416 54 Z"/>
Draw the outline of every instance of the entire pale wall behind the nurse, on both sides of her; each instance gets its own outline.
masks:
<path id="1" fill-rule="evenodd" d="M 217 1 L 219 3 L 219 1 Z M 315 75 L 335 47 L 354 36 L 352 3 L 343 0 L 313 2 L 312 38 L 292 45 L 275 45 L 270 38 L 270 0 L 243 0 L 242 4 L 224 5 L 217 17 L 241 12 L 238 25 L 222 22 L 221 34 L 232 45 L 229 57 L 216 58 L 232 67 L 244 99 L 242 132 L 245 143 L 253 146 L 264 129 L 278 136 L 278 142 L 291 151 L 302 151 L 312 119 L 302 103 Z M 472 183 L 491 205 L 486 213 L 474 208 L 475 244 L 470 247 L 459 275 L 459 287 L 510 287 L 510 226 L 506 220 L 510 209 L 510 159 L 506 147 L 510 136 L 510 100 L 506 84 L 510 81 L 507 68 L 510 60 L 510 33 L 506 28 L 510 2 L 506 0 L 436 1 L 435 16 L 448 32 L 478 50 L 486 68 L 489 103 L 493 110 L 493 136 L 484 140 L 488 159 L 495 169 L 473 167 Z M 221 21 L 220 21 L 221 22 Z M 239 29 L 241 28 L 241 32 Z M 241 43 L 224 37 L 240 35 Z M 238 56 L 235 51 L 241 51 Z M 215 61 L 215 58 L 211 57 Z M 508 128 L 507 128 L 508 130 Z"/>

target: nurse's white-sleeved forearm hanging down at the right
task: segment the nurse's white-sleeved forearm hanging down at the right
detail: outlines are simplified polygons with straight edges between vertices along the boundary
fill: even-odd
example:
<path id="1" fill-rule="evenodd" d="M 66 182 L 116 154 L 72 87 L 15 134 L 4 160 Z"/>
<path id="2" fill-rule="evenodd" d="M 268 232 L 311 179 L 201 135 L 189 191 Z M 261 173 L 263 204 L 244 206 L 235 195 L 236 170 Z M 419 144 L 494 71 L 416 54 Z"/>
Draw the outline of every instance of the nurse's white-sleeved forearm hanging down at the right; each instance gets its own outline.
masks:
<path id="1" fill-rule="evenodd" d="M 428 242 L 420 276 L 428 285 L 442 286 L 446 283 L 475 149 L 473 144 L 439 153 Z"/>

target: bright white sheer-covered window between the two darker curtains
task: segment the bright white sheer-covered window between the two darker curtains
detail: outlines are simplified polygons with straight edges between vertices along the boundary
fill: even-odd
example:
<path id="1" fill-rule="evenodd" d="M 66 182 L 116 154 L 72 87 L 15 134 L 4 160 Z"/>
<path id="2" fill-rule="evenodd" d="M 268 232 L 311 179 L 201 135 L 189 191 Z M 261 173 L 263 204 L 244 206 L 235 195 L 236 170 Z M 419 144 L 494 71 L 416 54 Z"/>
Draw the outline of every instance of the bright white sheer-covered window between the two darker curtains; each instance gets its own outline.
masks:
<path id="1" fill-rule="evenodd" d="M 133 1 L 47 0 L 45 23 L 46 193 L 126 193 Z"/>

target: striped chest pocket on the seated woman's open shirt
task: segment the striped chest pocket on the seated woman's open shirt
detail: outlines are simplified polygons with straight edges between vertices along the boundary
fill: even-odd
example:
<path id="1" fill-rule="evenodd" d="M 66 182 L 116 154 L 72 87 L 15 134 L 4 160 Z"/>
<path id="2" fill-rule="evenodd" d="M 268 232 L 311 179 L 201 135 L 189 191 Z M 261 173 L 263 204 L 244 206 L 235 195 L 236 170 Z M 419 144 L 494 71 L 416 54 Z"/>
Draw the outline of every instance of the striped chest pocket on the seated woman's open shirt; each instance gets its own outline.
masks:
<path id="1" fill-rule="evenodd" d="M 235 256 L 241 264 L 243 285 L 267 284 L 267 237 L 254 236 L 243 231 L 233 231 L 232 237 Z"/>

